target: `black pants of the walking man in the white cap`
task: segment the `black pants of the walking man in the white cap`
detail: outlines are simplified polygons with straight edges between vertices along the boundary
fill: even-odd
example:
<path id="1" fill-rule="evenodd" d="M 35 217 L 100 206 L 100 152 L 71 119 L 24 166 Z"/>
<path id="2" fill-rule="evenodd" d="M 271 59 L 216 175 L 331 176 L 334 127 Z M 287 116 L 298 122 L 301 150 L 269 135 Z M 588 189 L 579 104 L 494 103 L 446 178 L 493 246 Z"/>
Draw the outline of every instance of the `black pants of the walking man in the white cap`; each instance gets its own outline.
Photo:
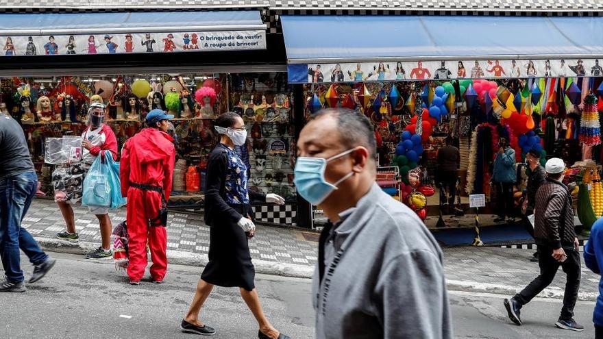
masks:
<path id="1" fill-rule="evenodd" d="M 540 266 L 540 275 L 518 294 L 514 299 L 519 305 L 526 305 L 536 297 L 542 290 L 549 286 L 559 268 L 567 275 L 565 283 L 565 294 L 563 296 L 563 308 L 561 309 L 561 318 L 569 319 L 574 316 L 574 306 L 578 300 L 578 288 L 580 288 L 580 253 L 574 250 L 565 249 L 567 260 L 558 262 L 552 257 L 551 248 L 538 247 L 538 265 Z"/>

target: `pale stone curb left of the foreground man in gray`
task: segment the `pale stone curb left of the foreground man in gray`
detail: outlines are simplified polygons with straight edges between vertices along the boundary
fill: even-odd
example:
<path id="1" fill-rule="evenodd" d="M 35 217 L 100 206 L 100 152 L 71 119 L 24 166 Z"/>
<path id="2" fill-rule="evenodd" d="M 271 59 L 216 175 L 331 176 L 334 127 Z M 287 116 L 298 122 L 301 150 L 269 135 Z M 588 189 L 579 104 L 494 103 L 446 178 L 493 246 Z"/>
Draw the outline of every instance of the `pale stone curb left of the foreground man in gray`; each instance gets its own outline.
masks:
<path id="1" fill-rule="evenodd" d="M 99 247 L 96 242 L 71 243 L 53 238 L 35 237 L 44 251 L 84 255 Z M 208 255 L 184 251 L 167 250 L 169 264 L 204 267 L 208 263 Z M 283 277 L 312 278 L 314 266 L 285 264 L 282 262 L 269 262 L 266 260 L 252 259 L 256 273 L 266 275 L 281 275 Z"/>

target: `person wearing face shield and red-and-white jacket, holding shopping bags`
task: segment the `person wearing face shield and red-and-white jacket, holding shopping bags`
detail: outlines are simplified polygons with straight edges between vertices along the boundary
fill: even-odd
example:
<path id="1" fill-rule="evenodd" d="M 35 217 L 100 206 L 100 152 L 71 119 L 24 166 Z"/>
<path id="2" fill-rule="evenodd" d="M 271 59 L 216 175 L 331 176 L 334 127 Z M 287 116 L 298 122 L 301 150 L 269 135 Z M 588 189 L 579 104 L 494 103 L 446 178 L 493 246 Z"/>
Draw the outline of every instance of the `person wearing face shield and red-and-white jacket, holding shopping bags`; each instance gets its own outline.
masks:
<path id="1" fill-rule="evenodd" d="M 105 156 L 104 151 L 110 151 L 113 160 L 117 160 L 117 140 L 115 134 L 109 125 L 103 123 L 105 118 L 105 105 L 102 103 L 92 103 L 88 109 L 88 118 L 86 123 L 88 127 L 82 133 L 82 169 L 84 173 L 88 171 L 90 165 L 97 156 Z M 61 214 L 65 219 L 67 230 L 58 233 L 56 236 L 60 240 L 69 242 L 78 242 L 79 236 L 75 229 L 75 218 L 73 208 L 67 201 L 58 201 L 57 204 Z M 99 208 L 88 206 L 88 211 L 95 214 L 99 219 L 101 228 L 101 247 L 86 254 L 88 259 L 109 259 L 111 253 L 111 218 L 108 208 Z"/>

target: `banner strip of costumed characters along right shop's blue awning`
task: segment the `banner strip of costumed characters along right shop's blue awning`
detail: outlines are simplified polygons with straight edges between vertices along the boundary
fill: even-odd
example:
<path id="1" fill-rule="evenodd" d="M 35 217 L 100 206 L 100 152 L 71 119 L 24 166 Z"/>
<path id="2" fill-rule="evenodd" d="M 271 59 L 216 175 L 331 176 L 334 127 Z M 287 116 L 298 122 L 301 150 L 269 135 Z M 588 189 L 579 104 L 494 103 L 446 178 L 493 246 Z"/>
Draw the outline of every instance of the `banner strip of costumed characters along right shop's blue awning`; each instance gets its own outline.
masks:
<path id="1" fill-rule="evenodd" d="M 596 59 L 363 62 L 308 64 L 306 69 L 307 82 L 315 84 L 344 81 L 603 76 L 603 67 Z M 289 75 L 290 80 L 302 77 L 305 78 L 306 75 Z"/>

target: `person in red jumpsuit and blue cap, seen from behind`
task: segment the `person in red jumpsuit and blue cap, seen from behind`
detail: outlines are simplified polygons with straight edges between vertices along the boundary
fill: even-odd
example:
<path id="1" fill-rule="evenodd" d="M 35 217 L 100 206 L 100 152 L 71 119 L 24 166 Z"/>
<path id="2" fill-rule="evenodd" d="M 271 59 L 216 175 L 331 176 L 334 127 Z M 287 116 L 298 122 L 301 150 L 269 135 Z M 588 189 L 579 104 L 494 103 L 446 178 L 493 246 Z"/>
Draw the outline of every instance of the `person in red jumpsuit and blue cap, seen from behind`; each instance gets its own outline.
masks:
<path id="1" fill-rule="evenodd" d="M 160 284 L 167 270 L 167 200 L 175 162 L 173 138 L 166 133 L 173 115 L 162 110 L 147 114 L 147 127 L 128 139 L 121 151 L 121 194 L 127 197 L 130 284 L 138 285 L 151 249 L 151 281 Z"/>

